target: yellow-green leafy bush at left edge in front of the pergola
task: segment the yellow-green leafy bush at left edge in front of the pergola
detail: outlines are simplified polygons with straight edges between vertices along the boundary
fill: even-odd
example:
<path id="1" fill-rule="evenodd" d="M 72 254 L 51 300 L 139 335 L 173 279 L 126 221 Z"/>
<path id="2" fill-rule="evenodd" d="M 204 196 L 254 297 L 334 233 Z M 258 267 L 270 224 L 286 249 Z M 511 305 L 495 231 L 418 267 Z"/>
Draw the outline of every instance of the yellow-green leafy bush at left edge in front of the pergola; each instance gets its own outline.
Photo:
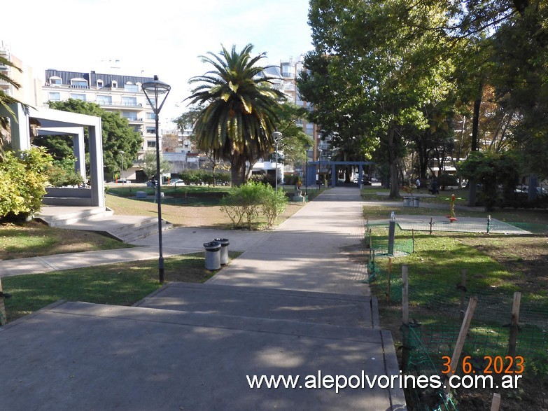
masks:
<path id="1" fill-rule="evenodd" d="M 31 148 L 19 156 L 13 151 L 3 153 L 0 162 L 0 218 L 40 211 L 48 181 L 46 169 L 51 161 L 44 148 Z"/>

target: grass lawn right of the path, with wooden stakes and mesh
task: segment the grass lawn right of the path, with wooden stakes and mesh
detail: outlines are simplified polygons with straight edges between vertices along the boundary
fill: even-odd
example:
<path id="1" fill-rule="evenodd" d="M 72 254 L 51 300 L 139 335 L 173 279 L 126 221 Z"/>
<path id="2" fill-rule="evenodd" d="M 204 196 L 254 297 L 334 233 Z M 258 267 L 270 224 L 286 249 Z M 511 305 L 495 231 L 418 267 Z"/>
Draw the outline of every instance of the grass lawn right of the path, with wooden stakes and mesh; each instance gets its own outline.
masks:
<path id="1" fill-rule="evenodd" d="M 387 200 L 376 194 L 377 190 L 363 190 L 364 200 Z M 422 204 L 440 204 L 437 199 L 423 199 Z M 446 200 L 443 200 L 444 202 Z M 463 204 L 464 205 L 464 204 Z M 388 222 L 391 211 L 398 214 L 444 216 L 448 210 L 432 208 L 387 207 L 368 203 L 364 216 L 370 221 Z M 448 206 L 449 209 L 449 206 Z M 521 329 L 518 354 L 526 353 L 526 370 L 520 389 L 503 390 L 505 410 L 547 409 L 548 404 L 548 212 L 544 210 L 457 211 L 458 216 L 487 218 L 488 215 L 503 221 L 526 223 L 538 228 L 531 235 L 486 235 L 463 232 L 414 232 L 415 253 L 407 256 L 376 258 L 374 269 L 377 279 L 370 284 L 372 293 L 379 299 L 381 327 L 392 331 L 396 347 L 401 347 L 402 324 L 402 265 L 409 272 L 410 321 L 421 325 L 413 328 L 422 335 L 421 341 L 430 359 L 419 356 L 421 349 L 412 350 L 414 361 L 430 364 L 440 370 L 442 356 L 451 356 L 461 320 L 459 302 L 461 271 L 467 272 L 468 295 L 477 295 L 478 307 L 472 328 L 465 343 L 465 354 L 472 358 L 507 355 L 512 294 L 521 292 Z M 386 241 L 388 230 L 371 226 L 372 244 Z M 368 238 L 368 236 L 367 236 Z M 396 244 L 412 242 L 412 233 L 396 230 Z M 391 299 L 386 300 L 388 267 L 391 270 Z M 400 351 L 398 351 L 398 354 Z M 481 367 L 480 367 L 481 368 Z M 420 373 L 420 372 L 419 372 Z M 497 390 L 495 390 L 497 391 Z M 459 410 L 484 409 L 491 403 L 491 390 L 459 389 L 455 398 Z M 411 397 L 408 400 L 412 400 Z M 433 406 L 433 404 L 430 404 Z"/>

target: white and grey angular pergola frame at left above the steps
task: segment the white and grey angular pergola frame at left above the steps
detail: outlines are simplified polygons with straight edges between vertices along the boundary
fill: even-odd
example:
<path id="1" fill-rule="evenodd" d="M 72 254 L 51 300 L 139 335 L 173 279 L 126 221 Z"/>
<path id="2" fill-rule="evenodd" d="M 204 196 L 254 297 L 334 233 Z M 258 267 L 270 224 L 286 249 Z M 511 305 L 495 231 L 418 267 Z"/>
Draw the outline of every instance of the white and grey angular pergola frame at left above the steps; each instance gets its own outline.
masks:
<path id="1" fill-rule="evenodd" d="M 101 118 L 85 114 L 69 113 L 52 109 L 24 109 L 21 104 L 12 104 L 8 111 L 0 107 L 0 116 L 10 118 L 11 144 L 15 151 L 28 150 L 31 147 L 30 125 L 38 125 L 39 135 L 68 134 L 73 138 L 73 153 L 76 157 L 76 172 L 85 175 L 84 127 L 87 127 L 90 153 L 90 188 L 62 188 L 65 204 L 105 207 L 103 176 L 103 137 Z M 49 190 L 48 190 L 49 191 Z M 71 198 L 76 202 L 71 202 Z"/>

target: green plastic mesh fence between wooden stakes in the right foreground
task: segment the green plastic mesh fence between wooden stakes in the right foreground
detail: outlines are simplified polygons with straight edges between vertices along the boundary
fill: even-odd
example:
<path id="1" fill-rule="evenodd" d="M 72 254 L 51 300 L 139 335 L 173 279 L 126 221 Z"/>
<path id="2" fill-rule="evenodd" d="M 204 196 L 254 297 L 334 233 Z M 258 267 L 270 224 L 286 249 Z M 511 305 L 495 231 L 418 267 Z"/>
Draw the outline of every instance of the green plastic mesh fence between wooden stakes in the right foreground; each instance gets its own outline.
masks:
<path id="1" fill-rule="evenodd" d="M 374 272 L 372 287 L 377 288 L 377 295 L 388 295 L 388 270 L 379 265 L 371 267 L 371 262 L 370 270 Z M 392 272 L 390 277 L 389 298 L 393 302 L 401 302 L 401 274 Z M 477 297 L 477 307 L 461 358 L 470 356 L 473 370 L 481 375 L 487 369 L 486 361 L 489 358 L 508 355 L 513 293 L 479 291 L 458 286 L 444 290 L 440 284 L 409 273 L 409 316 L 412 329 L 409 332 L 411 348 L 407 370 L 416 375 L 431 375 L 432 372 L 440 374 L 444 367 L 443 357 L 453 354 L 461 329 L 461 316 L 472 296 Z M 515 354 L 526 358 L 527 370 L 545 369 L 548 361 L 548 303 L 545 299 L 521 293 Z M 438 393 L 432 392 L 414 392 L 413 395 L 419 410 L 435 409 L 432 408 L 433 400 L 444 398 L 442 394 L 438 396 Z M 454 407 L 452 403 L 442 403 L 441 406 L 448 407 L 448 410 L 456 409 L 451 408 Z"/>

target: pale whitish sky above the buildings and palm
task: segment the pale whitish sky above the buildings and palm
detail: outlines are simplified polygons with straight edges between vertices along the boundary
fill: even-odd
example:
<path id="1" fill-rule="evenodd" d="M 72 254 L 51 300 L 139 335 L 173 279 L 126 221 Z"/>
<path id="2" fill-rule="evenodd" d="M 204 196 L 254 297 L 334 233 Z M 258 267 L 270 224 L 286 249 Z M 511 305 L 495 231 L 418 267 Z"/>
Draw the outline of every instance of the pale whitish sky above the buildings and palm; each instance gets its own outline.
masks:
<path id="1" fill-rule="evenodd" d="M 220 44 L 267 53 L 263 64 L 311 50 L 308 0 L 10 0 L 0 41 L 43 77 L 44 69 L 157 74 L 171 85 L 162 120 L 185 109 L 199 55 Z"/>

